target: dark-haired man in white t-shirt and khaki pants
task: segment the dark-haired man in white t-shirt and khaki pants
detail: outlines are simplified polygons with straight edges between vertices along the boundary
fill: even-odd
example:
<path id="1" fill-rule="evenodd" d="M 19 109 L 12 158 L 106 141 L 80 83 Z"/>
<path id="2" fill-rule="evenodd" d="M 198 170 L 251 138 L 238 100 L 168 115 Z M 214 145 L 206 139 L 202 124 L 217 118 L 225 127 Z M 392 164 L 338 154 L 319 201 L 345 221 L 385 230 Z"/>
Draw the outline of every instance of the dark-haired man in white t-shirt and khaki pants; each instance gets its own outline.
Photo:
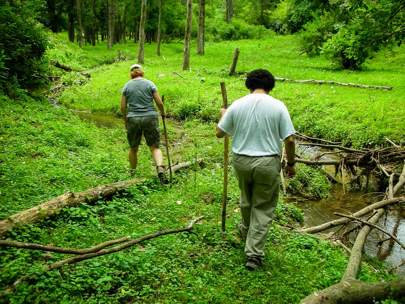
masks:
<path id="1" fill-rule="evenodd" d="M 240 188 L 238 230 L 246 240 L 246 268 L 262 267 L 264 246 L 278 202 L 281 141 L 284 141 L 287 178 L 296 174 L 295 129 L 284 103 L 269 95 L 275 79 L 265 69 L 247 74 L 250 94 L 221 109 L 216 136 L 232 138 L 232 165 Z"/>

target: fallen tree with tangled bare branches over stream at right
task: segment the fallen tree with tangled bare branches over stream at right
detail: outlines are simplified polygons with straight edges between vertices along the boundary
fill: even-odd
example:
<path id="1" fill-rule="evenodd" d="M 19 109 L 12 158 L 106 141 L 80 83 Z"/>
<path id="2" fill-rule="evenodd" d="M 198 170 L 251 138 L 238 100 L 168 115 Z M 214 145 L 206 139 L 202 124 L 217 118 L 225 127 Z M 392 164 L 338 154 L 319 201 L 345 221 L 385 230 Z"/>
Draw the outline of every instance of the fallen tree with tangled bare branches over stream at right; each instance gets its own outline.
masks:
<path id="1" fill-rule="evenodd" d="M 313 144 L 312 144 L 313 145 Z M 395 173 L 385 167 L 385 165 L 391 164 L 393 162 L 398 162 L 405 159 L 405 151 L 397 146 L 370 150 L 354 150 L 348 149 L 341 146 L 336 146 L 334 144 L 315 144 L 323 148 L 330 148 L 333 150 L 338 149 L 339 153 L 343 155 L 343 159 L 338 161 L 319 161 L 318 157 L 313 160 L 306 160 L 304 158 L 297 159 L 297 162 L 309 164 L 309 165 L 335 165 L 337 167 L 346 166 L 363 166 L 362 174 L 368 174 L 371 171 L 378 169 L 383 174 L 389 178 L 389 185 L 386 190 L 386 194 L 383 200 L 374 203 L 362 210 L 354 212 L 349 215 L 338 214 L 341 219 L 332 220 L 327 223 L 320 224 L 315 227 L 307 227 L 299 229 L 299 233 L 321 233 L 332 227 L 343 226 L 339 231 L 332 234 L 329 239 L 332 239 L 338 244 L 341 244 L 345 250 L 350 253 L 349 262 L 346 267 L 346 271 L 343 274 L 341 281 L 333 286 L 326 289 L 313 292 L 305 299 L 303 299 L 300 304 L 320 304 L 320 303 L 375 303 L 376 300 L 383 300 L 388 297 L 391 298 L 401 298 L 405 296 L 405 277 L 401 277 L 395 281 L 382 282 L 382 283 L 366 283 L 356 280 L 362 258 L 362 251 L 373 228 L 377 228 L 380 231 L 386 233 L 389 238 L 387 240 L 394 240 L 397 242 L 404 250 L 405 245 L 402 244 L 394 234 L 385 231 L 382 227 L 377 225 L 378 220 L 386 214 L 385 208 L 394 204 L 405 203 L 405 197 L 395 197 L 400 193 L 400 189 L 405 184 L 405 164 L 402 162 L 401 173 Z M 337 170 L 338 172 L 339 170 Z M 353 168 L 350 169 L 351 172 L 355 172 Z M 355 175 L 358 179 L 358 175 Z M 394 179 L 397 180 L 394 184 Z M 361 219 L 362 216 L 369 216 L 367 219 Z M 355 227 L 348 227 L 349 223 L 354 223 Z M 354 245 L 351 249 L 348 249 L 343 243 L 345 237 L 352 232 L 356 232 Z M 387 241 L 386 240 L 386 241 Z M 405 260 L 402 261 L 402 264 Z M 399 267 L 399 265 L 397 265 Z M 395 269 L 395 268 L 393 268 Z"/>

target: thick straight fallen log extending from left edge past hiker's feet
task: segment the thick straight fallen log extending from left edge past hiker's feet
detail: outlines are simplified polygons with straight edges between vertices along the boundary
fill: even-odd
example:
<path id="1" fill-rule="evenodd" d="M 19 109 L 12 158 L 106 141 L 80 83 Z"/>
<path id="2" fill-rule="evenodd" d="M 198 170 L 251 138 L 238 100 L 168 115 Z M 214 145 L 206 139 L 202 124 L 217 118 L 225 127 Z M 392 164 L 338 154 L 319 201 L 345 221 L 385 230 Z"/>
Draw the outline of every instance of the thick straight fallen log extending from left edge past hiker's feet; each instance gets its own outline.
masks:
<path id="1" fill-rule="evenodd" d="M 197 162 L 201 162 L 198 160 Z M 182 168 L 186 168 L 194 162 L 185 162 L 172 167 L 172 172 L 176 172 Z M 27 209 L 25 211 L 10 215 L 5 219 L 0 220 L 0 237 L 7 234 L 10 229 L 13 229 L 16 225 L 23 226 L 29 223 L 34 223 L 39 219 L 44 219 L 50 216 L 54 216 L 56 212 L 62 210 L 65 207 L 75 207 L 80 203 L 92 203 L 97 201 L 100 197 L 108 198 L 115 194 L 121 193 L 128 186 L 134 185 L 144 179 L 157 176 L 157 174 L 148 175 L 141 178 L 118 181 L 103 186 L 87 189 L 82 192 L 73 193 L 68 191 L 61 196 L 54 198 L 50 201 Z"/>

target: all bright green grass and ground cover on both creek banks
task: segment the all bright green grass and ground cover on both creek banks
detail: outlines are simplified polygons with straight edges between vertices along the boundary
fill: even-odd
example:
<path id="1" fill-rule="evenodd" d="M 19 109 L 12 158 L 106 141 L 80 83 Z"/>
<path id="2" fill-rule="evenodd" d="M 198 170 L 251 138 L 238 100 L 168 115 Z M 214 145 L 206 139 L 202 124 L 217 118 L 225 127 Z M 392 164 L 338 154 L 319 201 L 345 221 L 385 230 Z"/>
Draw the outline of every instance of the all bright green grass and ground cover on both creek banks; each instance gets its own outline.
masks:
<path id="1" fill-rule="evenodd" d="M 2 96 L 0 218 L 68 190 L 79 192 L 129 178 L 124 126 L 96 128 L 79 120 L 70 109 L 116 115 L 120 90 L 135 59 L 114 60 L 119 50 L 128 59 L 136 58 L 136 45 L 114 46 L 113 50 L 106 45 L 82 50 L 63 45 L 50 56 L 90 72 L 91 78 L 55 70 L 69 85 L 58 95 L 58 106 L 39 98 L 10 100 Z M 273 96 L 286 102 L 295 127 L 307 135 L 333 140 L 339 135 L 345 143 L 356 145 L 383 144 L 384 137 L 403 143 L 404 113 L 396 106 L 405 96 L 399 75 L 403 50 L 395 57 L 382 54 L 362 71 L 335 71 L 321 58 L 298 56 L 293 37 L 274 36 L 261 42 L 207 45 L 206 55 L 191 54 L 191 70 L 181 71 L 181 44 L 164 45 L 161 57 L 154 55 L 153 45 L 145 47 L 146 77 L 165 95 L 171 118 L 177 119 L 168 120 L 172 163 L 202 158 L 204 165 L 175 174 L 172 188 L 151 178 L 109 200 L 66 208 L 54 218 L 15 229 L 9 237 L 89 248 L 127 235 L 138 238 L 182 227 L 204 215 L 194 225 L 197 236 L 159 237 L 53 272 L 41 268 L 67 255 L 0 247 L 0 290 L 36 271 L 29 282 L 0 298 L 0 303 L 297 303 L 312 291 L 337 283 L 347 256 L 330 242 L 287 229 L 288 225 L 305 224 L 302 212 L 287 197 L 281 197 L 277 207 L 264 269 L 245 270 L 244 243 L 236 234 L 239 192 L 231 172 L 227 230 L 221 232 L 223 141 L 214 136 L 222 105 L 219 84 L 226 83 L 229 102 L 247 93 L 244 76 L 229 77 L 223 69 L 237 47 L 240 71 L 265 67 L 279 78 L 392 85 L 394 90 L 384 91 L 277 82 Z M 201 82 L 203 77 L 205 82 Z M 394 119 L 395 124 L 389 123 Z M 137 176 L 151 173 L 152 159 L 142 145 Z M 327 192 L 321 174 L 307 174 L 312 174 L 316 189 L 303 188 L 303 192 Z M 394 277 L 384 272 L 382 263 L 366 258 L 358 279 L 375 282 Z"/>

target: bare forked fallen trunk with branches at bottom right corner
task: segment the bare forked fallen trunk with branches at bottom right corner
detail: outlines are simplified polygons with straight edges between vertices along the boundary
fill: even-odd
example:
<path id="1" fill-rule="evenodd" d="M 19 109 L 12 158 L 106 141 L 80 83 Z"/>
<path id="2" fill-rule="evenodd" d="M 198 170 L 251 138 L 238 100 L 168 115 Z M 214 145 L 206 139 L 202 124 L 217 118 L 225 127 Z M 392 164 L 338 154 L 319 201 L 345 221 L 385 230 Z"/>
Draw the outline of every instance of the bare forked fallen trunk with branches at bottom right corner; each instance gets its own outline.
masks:
<path id="1" fill-rule="evenodd" d="M 393 176 L 393 175 L 391 175 Z M 405 296 L 405 277 L 391 282 L 382 283 L 365 283 L 356 280 L 358 272 L 360 270 L 360 263 L 362 258 L 362 250 L 368 235 L 373 227 L 377 227 L 376 223 L 381 216 L 385 214 L 383 206 L 390 205 L 391 203 L 403 203 L 405 197 L 394 198 L 403 186 L 405 180 L 405 164 L 402 167 L 402 173 L 396 185 L 393 185 L 393 178 L 390 178 L 389 190 L 387 196 L 383 201 L 370 205 L 362 210 L 354 213 L 352 216 L 342 215 L 345 218 L 332 221 L 326 224 L 319 225 L 317 227 L 311 227 L 310 229 L 304 229 L 300 232 L 321 232 L 336 226 L 337 222 L 347 223 L 350 220 L 361 223 L 365 226 L 362 227 L 358 233 L 354 245 L 350 250 L 349 262 L 347 264 L 345 273 L 342 276 L 341 281 L 338 284 L 330 286 L 326 289 L 313 292 L 300 304 L 320 304 L 320 303 L 375 303 L 376 300 L 382 300 L 388 297 L 400 298 Z M 377 209 L 377 210 L 376 210 Z M 368 212 L 367 212 L 368 211 Z M 366 215 L 374 211 L 374 214 L 367 221 L 359 219 L 359 216 Z M 360 215 L 361 214 L 361 215 Z M 380 229 L 384 232 L 383 229 Z M 390 237 L 393 237 L 391 233 L 388 233 Z M 396 239 L 396 238 L 395 238 Z M 396 239 L 396 241 L 398 241 Z M 399 242 L 404 248 L 404 245 Z"/>

